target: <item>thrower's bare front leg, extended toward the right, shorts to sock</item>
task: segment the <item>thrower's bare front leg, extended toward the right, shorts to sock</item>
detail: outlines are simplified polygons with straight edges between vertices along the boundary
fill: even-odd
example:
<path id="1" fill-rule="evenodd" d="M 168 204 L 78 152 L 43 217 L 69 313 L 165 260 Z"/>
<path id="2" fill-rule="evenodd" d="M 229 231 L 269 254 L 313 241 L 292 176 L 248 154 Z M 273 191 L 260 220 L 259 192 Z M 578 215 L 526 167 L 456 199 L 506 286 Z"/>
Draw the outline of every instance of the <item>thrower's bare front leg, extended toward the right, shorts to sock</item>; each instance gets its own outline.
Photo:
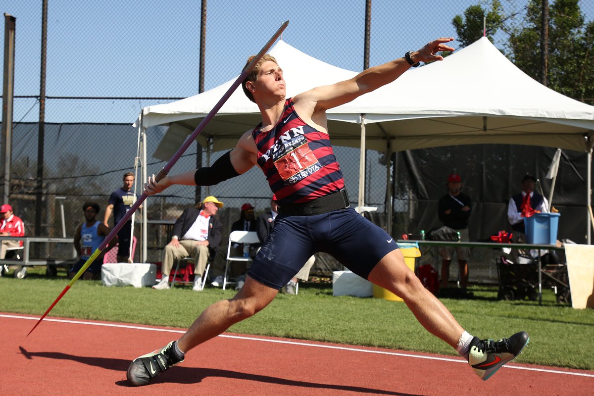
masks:
<path id="1" fill-rule="evenodd" d="M 457 348 L 463 328 L 407 267 L 399 249 L 384 256 L 371 270 L 368 280 L 400 296 L 426 330 Z"/>

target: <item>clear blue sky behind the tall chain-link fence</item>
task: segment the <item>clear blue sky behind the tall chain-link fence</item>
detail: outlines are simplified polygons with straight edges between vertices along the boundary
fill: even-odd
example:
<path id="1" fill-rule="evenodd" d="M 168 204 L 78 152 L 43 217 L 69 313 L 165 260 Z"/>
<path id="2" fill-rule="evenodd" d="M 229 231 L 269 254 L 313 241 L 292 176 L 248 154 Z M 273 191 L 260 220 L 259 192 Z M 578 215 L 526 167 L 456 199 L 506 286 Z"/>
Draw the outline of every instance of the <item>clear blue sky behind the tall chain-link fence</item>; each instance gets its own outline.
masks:
<path id="1" fill-rule="evenodd" d="M 372 1 L 370 64 L 400 57 L 439 36 L 455 36 L 452 18 L 478 1 Z M 524 2 L 503 4 L 519 9 Z M 592 15 L 592 5 L 581 5 Z M 17 18 L 14 94 L 38 95 L 42 1 L 12 0 L 0 11 Z M 285 20 L 290 24 L 283 39 L 290 45 L 330 64 L 361 70 L 364 15 L 364 0 L 210 0 L 205 87 L 234 78 L 247 56 Z M 4 28 L 0 35 L 4 46 Z M 49 0 L 46 95 L 191 96 L 198 93 L 199 44 L 199 0 Z M 34 102 L 15 103 L 15 121 L 36 121 Z M 87 109 L 93 109 L 90 103 L 50 103 L 46 121 L 132 122 L 142 106 L 153 103 L 99 111 Z"/>

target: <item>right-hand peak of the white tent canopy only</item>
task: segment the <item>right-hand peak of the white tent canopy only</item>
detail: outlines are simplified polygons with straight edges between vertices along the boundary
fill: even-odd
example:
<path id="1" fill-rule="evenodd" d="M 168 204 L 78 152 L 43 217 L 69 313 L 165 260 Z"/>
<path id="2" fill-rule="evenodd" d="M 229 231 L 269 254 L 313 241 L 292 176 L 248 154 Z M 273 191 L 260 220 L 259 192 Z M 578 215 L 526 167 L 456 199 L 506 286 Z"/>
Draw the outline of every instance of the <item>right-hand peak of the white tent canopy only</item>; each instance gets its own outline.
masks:
<path id="1" fill-rule="evenodd" d="M 533 80 L 486 37 L 331 112 L 380 124 L 366 129 L 377 150 L 389 137 L 391 151 L 502 142 L 586 151 L 594 133 L 594 106 Z"/>

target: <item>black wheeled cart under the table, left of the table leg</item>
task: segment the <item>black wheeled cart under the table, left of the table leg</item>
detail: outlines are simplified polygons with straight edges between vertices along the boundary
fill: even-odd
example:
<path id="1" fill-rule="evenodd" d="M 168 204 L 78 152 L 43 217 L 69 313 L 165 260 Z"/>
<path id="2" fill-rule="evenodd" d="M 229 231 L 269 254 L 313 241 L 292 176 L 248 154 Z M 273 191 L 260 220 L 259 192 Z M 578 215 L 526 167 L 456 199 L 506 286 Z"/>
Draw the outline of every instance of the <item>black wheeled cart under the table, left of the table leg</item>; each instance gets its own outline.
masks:
<path id="1" fill-rule="evenodd" d="M 496 259 L 500 300 L 538 300 L 538 263 L 533 259 L 520 259 L 514 263 L 505 256 Z"/>

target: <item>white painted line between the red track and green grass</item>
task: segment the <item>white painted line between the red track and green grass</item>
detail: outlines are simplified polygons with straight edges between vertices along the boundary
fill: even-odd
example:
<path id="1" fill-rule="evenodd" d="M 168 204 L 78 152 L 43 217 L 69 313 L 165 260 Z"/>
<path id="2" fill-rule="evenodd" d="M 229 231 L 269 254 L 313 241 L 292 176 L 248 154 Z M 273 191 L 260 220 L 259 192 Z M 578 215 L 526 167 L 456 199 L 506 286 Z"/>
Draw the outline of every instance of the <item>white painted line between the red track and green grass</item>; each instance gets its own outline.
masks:
<path id="1" fill-rule="evenodd" d="M 4 313 L 0 313 L 0 318 L 28 319 L 28 320 L 31 320 L 31 321 L 33 321 L 33 320 L 34 321 L 38 321 L 39 320 L 39 317 L 36 318 L 36 317 L 33 317 L 33 316 L 7 315 L 7 314 L 4 314 Z M 134 329 L 134 330 L 174 332 L 174 333 L 179 333 L 179 334 L 184 334 L 185 333 L 185 330 L 171 330 L 171 329 L 164 329 L 164 328 L 144 327 L 144 326 L 135 326 L 135 325 L 124 325 L 124 324 L 115 324 L 115 323 L 86 322 L 86 321 L 76 321 L 76 320 L 71 320 L 71 319 L 68 319 L 67 320 L 67 319 L 51 319 L 51 318 L 45 318 L 43 320 L 48 321 L 48 322 L 71 323 L 71 324 L 103 326 L 103 327 L 118 327 L 118 328 Z M 352 351 L 352 352 L 378 353 L 378 354 L 386 354 L 386 355 L 391 355 L 391 356 L 413 357 L 415 359 L 442 360 L 444 362 L 452 362 L 452 363 L 466 363 L 466 360 L 463 360 L 463 359 L 453 359 L 451 357 L 423 356 L 423 355 L 418 355 L 418 354 L 413 354 L 413 353 L 377 351 L 377 350 L 368 350 L 368 349 L 353 348 L 353 347 L 339 347 L 339 346 L 333 346 L 333 345 L 305 343 L 305 342 L 302 342 L 302 341 L 270 340 L 270 339 L 267 339 L 267 338 L 248 337 L 248 336 L 245 336 L 245 335 L 221 334 L 218 337 L 236 338 L 238 340 L 261 341 L 261 342 L 264 342 L 264 343 L 277 343 L 277 344 L 298 345 L 298 346 L 304 346 L 304 347 L 338 349 L 338 350 L 345 350 L 345 351 Z M 536 371 L 536 372 L 544 372 L 544 373 L 552 373 L 552 374 L 560 374 L 560 375 L 576 375 L 576 376 L 583 376 L 583 377 L 594 378 L 594 374 L 574 373 L 574 372 L 561 371 L 561 370 L 538 369 L 538 368 L 529 368 L 529 367 L 514 366 L 514 365 L 511 365 L 511 366 L 510 365 L 505 365 L 505 366 L 503 366 L 503 368 L 517 369 L 517 370 L 527 370 L 527 371 Z"/>

